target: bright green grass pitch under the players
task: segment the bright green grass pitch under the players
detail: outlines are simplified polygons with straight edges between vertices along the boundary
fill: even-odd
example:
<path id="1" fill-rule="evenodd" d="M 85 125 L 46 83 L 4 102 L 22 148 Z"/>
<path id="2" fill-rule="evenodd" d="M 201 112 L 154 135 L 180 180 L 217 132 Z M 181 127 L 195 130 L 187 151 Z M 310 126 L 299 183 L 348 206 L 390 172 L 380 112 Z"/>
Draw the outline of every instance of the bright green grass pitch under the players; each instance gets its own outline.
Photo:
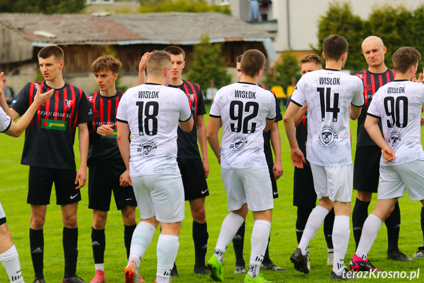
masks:
<path id="1" fill-rule="evenodd" d="M 207 106 L 207 111 L 209 110 Z M 284 113 L 283 113 L 284 114 Z M 207 123 L 207 115 L 205 120 Z M 352 131 L 352 155 L 355 154 L 356 144 L 356 126 L 357 122 L 351 121 Z M 296 207 L 292 206 L 293 195 L 293 166 L 289 156 L 289 146 L 284 131 L 283 123 L 279 123 L 282 140 L 282 159 L 283 176 L 278 180 L 280 197 L 274 202 L 273 222 L 271 228 L 270 257 L 279 266 L 287 268 L 287 271 L 275 273 L 264 271 L 263 274 L 267 280 L 274 282 L 329 282 L 331 267 L 327 266 L 327 249 L 324 235 L 321 229 L 317 232 L 315 238 L 311 241 L 311 272 L 309 275 L 301 274 L 294 270 L 289 261 L 291 253 L 296 249 Z M 20 165 L 20 158 L 24 144 L 24 136 L 20 138 L 11 138 L 4 134 L 0 135 L 0 201 L 6 212 L 7 223 L 10 227 L 13 241 L 16 244 L 21 260 L 22 273 L 25 281 L 33 281 L 34 272 L 29 251 L 29 205 L 26 203 L 28 190 L 28 166 Z M 78 137 L 75 142 L 75 152 L 77 167 L 79 166 Z M 49 151 L 49 148 L 41 149 Z M 206 198 L 206 217 L 209 231 L 209 247 L 206 260 L 213 254 L 214 247 L 221 228 L 221 223 L 228 214 L 226 208 L 226 193 L 221 180 L 220 167 L 210 148 L 209 166 L 210 173 L 207 179 L 210 196 Z M 88 209 L 87 185 L 81 190 L 83 200 L 78 209 L 78 227 L 79 227 L 79 257 L 77 275 L 90 282 L 94 276 L 94 261 L 91 250 L 91 224 L 92 212 Z M 355 192 L 352 200 L 355 200 Z M 44 226 L 44 273 L 47 283 L 61 282 L 63 277 L 64 260 L 62 248 L 62 221 L 60 207 L 56 205 L 55 193 L 51 196 L 51 205 L 47 208 L 46 224 Z M 368 212 L 370 213 L 375 206 L 376 194 L 374 194 Z M 352 203 L 353 207 L 354 203 Z M 420 210 L 419 202 L 412 202 L 408 196 L 399 201 L 401 211 L 401 228 L 399 237 L 399 248 L 402 252 L 412 257 L 417 251 L 418 246 L 423 244 L 423 236 L 420 228 Z M 176 264 L 178 266 L 179 277 L 172 280 L 174 283 L 191 282 L 212 282 L 209 277 L 203 277 L 193 274 L 194 265 L 194 246 L 192 239 L 192 217 L 190 207 L 186 203 L 186 218 L 183 221 L 180 233 L 180 247 Z M 139 214 L 137 211 L 137 218 Z M 246 223 L 246 238 L 244 259 L 249 263 L 250 257 L 250 236 L 252 233 L 253 218 L 250 213 Z M 352 229 L 352 228 L 351 228 Z M 105 274 L 108 282 L 124 282 L 123 270 L 126 265 L 123 223 L 121 215 L 116 211 L 114 202 L 111 204 L 108 222 L 106 225 L 106 252 L 105 252 Z M 147 282 L 153 282 L 156 276 L 156 243 L 159 235 L 159 229 L 147 249 L 145 256 L 141 260 L 140 273 Z M 345 263 L 348 264 L 353 256 L 355 242 L 353 234 L 350 235 L 349 248 L 346 254 Z M 373 260 L 374 265 L 385 271 L 417 271 L 423 268 L 424 259 L 415 259 L 414 262 L 395 262 L 386 259 L 387 252 L 387 231 L 386 226 L 382 225 L 377 239 L 369 253 L 369 258 Z M 229 246 L 224 259 L 224 280 L 225 282 L 243 282 L 244 275 L 234 275 L 234 251 L 232 245 Z M 420 279 L 413 281 L 422 282 L 424 270 L 421 270 Z M 366 279 L 364 279 L 366 280 Z M 6 273 L 0 267 L 0 281 L 8 282 Z M 379 279 L 379 282 L 391 282 L 393 280 Z M 409 279 L 395 280 L 407 282 Z"/>

